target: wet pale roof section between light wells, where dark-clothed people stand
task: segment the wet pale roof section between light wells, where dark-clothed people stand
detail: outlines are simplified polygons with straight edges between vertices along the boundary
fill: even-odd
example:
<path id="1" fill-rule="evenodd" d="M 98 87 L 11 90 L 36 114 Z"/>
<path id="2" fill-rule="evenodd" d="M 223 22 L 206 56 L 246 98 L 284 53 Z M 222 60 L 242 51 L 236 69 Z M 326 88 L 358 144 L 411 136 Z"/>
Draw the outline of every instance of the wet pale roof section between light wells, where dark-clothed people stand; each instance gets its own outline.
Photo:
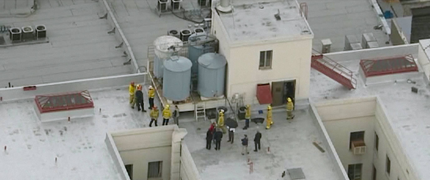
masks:
<path id="1" fill-rule="evenodd" d="M 265 114 L 265 113 L 264 113 Z M 253 115 L 257 117 L 258 115 Z M 321 142 L 313 118 L 307 110 L 295 111 L 292 123 L 286 121 L 285 112 L 273 112 L 274 124 L 265 130 L 265 124 L 259 124 L 262 133 L 261 151 L 254 152 L 255 123 L 250 123 L 248 130 L 242 130 L 245 122 L 239 122 L 234 134 L 234 143 L 227 142 L 225 133 L 221 140 L 221 150 L 206 149 L 206 131 L 209 121 L 187 122 L 179 124 L 187 128 L 184 141 L 196 163 L 202 180 L 279 180 L 286 169 L 302 168 L 307 180 L 341 180 L 335 173 L 335 164 L 326 152 L 320 152 L 313 141 Z M 243 134 L 249 138 L 249 155 L 241 155 Z M 270 147 L 270 152 L 267 148 Z M 249 173 L 248 158 L 253 162 L 253 173 Z"/>

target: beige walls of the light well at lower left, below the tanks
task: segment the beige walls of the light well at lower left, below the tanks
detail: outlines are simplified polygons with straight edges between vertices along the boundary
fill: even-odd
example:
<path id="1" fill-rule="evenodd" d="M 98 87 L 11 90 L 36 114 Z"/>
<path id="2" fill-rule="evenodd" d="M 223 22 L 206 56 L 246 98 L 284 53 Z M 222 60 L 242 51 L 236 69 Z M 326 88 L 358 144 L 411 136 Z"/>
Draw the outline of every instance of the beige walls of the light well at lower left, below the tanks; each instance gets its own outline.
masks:
<path id="1" fill-rule="evenodd" d="M 133 164 L 133 180 L 147 180 L 148 163 L 153 161 L 163 161 L 162 177 L 157 180 L 179 179 L 183 177 L 181 172 L 188 174 L 186 179 L 197 180 L 197 168 L 188 168 L 194 165 L 191 156 L 181 157 L 182 153 L 189 154 L 181 146 L 186 133 L 183 128 L 168 125 L 108 133 L 105 141 L 109 149 L 118 152 L 111 152 L 114 159 L 122 162 L 116 163 L 117 168 L 124 171 L 122 166 Z M 185 171 L 180 170 L 181 161 L 188 162 Z"/>

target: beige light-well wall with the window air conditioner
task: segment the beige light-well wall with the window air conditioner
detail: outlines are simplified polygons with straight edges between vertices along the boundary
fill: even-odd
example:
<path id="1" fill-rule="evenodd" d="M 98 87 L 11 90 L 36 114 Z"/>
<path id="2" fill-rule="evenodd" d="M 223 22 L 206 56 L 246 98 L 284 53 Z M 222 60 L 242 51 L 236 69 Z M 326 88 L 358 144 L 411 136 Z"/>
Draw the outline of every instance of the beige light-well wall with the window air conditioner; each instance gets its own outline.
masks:
<path id="1" fill-rule="evenodd" d="M 364 98 L 317 106 L 345 171 L 349 164 L 362 163 L 362 180 L 372 180 L 375 105 L 375 98 Z M 356 131 L 365 131 L 366 152 L 363 155 L 354 155 L 349 149 L 350 133 Z"/>

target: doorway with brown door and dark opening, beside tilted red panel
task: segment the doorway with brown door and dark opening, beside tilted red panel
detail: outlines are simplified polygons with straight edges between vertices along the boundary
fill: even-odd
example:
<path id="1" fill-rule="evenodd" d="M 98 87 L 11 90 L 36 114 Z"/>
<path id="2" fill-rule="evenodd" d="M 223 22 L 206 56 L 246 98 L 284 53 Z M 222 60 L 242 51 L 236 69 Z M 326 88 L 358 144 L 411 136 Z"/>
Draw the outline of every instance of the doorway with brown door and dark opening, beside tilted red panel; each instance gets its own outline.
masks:
<path id="1" fill-rule="evenodd" d="M 287 103 L 287 98 L 295 102 L 295 80 L 272 82 L 272 106 L 281 106 Z"/>

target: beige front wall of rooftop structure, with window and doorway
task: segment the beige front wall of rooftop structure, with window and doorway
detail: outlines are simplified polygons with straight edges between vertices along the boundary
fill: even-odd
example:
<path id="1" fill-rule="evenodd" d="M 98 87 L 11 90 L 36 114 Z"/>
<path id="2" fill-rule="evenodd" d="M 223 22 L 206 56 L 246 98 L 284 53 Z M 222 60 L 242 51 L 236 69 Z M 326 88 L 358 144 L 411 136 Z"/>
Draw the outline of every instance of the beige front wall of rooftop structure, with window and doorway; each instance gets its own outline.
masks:
<path id="1" fill-rule="evenodd" d="M 273 50 L 272 68 L 260 70 L 260 51 Z M 295 99 L 309 96 L 312 39 L 231 47 L 227 59 L 227 95 L 244 94 L 246 103 L 258 103 L 257 84 L 296 80 Z"/>

